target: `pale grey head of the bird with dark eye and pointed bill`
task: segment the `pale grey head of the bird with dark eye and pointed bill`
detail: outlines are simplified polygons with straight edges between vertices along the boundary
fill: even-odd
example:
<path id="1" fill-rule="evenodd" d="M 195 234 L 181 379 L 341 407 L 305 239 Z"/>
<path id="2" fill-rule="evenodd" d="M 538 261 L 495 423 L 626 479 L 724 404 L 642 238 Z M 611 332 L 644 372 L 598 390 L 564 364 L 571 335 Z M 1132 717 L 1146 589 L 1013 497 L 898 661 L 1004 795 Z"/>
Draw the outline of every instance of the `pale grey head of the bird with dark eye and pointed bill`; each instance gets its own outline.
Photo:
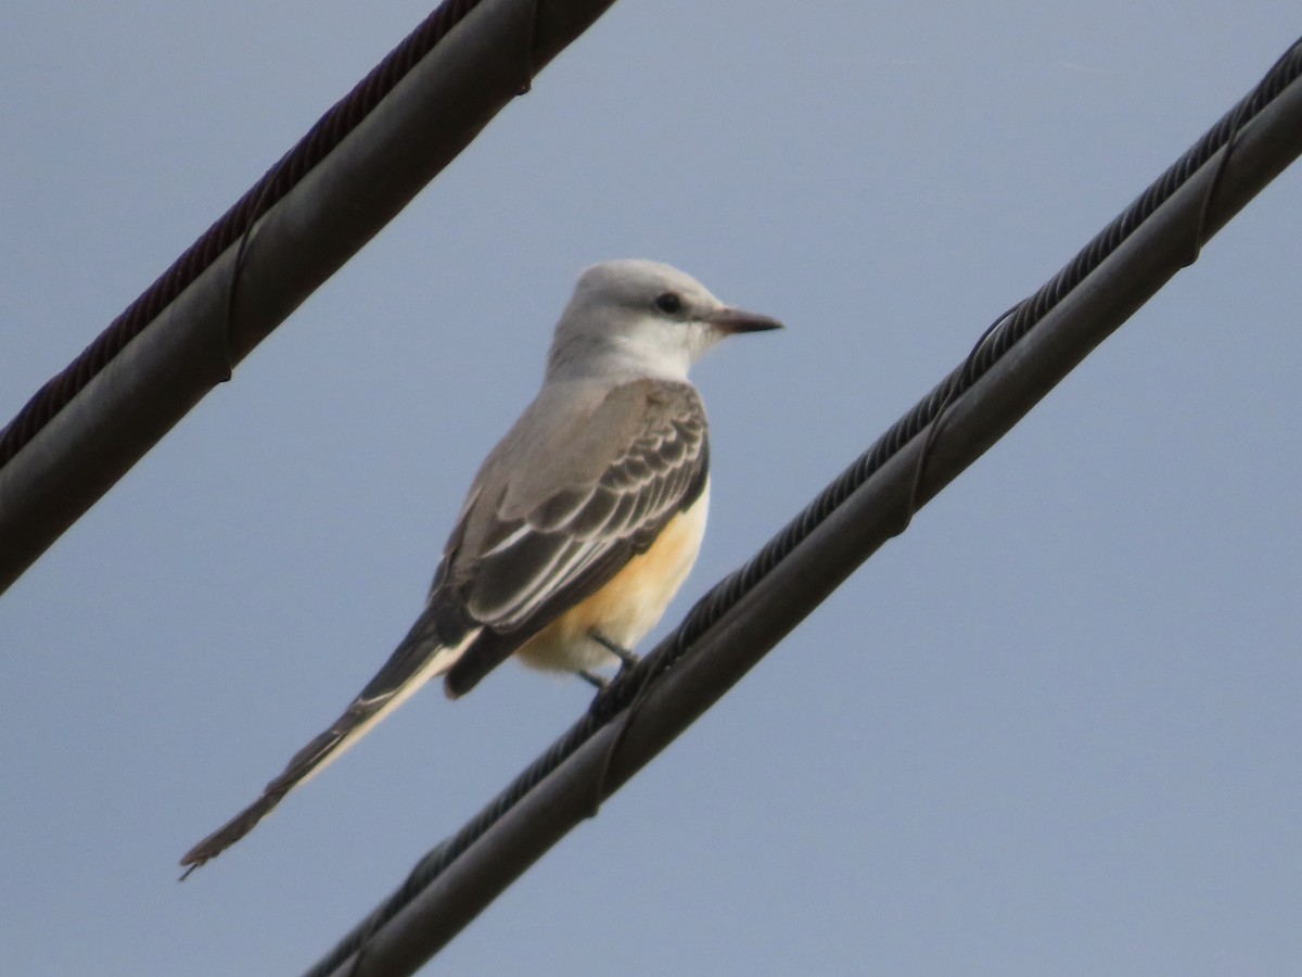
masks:
<path id="1" fill-rule="evenodd" d="M 724 336 L 780 326 L 767 315 L 724 305 L 669 264 L 603 262 L 579 276 L 556 324 L 547 373 L 681 380 L 697 357 Z"/>

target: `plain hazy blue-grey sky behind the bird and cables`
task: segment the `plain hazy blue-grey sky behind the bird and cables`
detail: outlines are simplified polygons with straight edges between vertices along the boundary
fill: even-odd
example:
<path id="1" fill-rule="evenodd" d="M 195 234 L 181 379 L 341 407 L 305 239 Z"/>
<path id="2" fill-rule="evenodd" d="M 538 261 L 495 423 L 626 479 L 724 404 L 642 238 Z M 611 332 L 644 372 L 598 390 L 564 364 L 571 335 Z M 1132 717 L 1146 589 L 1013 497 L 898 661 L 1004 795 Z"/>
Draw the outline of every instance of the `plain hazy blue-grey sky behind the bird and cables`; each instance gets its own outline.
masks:
<path id="1" fill-rule="evenodd" d="M 427 9 L 10 10 L 0 416 Z M 0 972 L 298 973 L 585 709 L 427 692 L 176 882 L 405 632 L 585 264 L 789 324 L 695 374 L 663 632 L 1298 30 L 617 4 L 0 598 Z M 1302 970 L 1299 221 L 1294 168 L 428 972 Z"/>

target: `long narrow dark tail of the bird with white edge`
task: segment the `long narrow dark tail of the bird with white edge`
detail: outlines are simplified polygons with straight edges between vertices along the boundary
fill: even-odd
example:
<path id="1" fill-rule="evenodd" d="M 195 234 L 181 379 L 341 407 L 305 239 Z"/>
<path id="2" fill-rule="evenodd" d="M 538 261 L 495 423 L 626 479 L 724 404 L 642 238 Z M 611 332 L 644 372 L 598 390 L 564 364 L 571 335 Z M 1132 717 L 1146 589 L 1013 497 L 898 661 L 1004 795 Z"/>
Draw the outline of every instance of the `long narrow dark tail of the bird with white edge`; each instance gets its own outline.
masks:
<path id="1" fill-rule="evenodd" d="M 182 881 L 253 831 L 286 793 L 339 758 L 417 689 L 456 663 L 478 632 L 464 634 L 456 645 L 444 645 L 434 617 L 434 612 L 426 608 L 389 655 L 389 660 L 349 703 L 335 724 L 298 750 L 285 770 L 263 788 L 258 800 L 185 853 L 181 858 L 181 865 L 186 866 L 181 875 Z"/>

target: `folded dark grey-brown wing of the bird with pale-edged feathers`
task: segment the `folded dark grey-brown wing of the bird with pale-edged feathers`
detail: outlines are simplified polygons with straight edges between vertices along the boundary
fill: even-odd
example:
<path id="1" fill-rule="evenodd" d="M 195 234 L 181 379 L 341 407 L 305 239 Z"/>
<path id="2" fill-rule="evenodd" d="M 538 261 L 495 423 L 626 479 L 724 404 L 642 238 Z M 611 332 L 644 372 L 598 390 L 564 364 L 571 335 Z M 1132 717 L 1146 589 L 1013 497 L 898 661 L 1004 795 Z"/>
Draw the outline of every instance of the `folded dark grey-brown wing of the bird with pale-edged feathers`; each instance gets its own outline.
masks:
<path id="1" fill-rule="evenodd" d="M 566 434 L 573 442 L 539 440 L 522 452 L 533 461 L 523 487 L 508 483 L 519 466 L 495 483 L 486 462 L 479 504 L 456 534 L 462 547 L 440 572 L 448 598 L 484 625 L 448 672 L 452 694 L 598 590 L 704 486 L 706 417 L 690 384 L 637 380 L 605 391 L 586 417 L 569 418 Z M 490 500 L 495 511 L 483 509 Z"/>

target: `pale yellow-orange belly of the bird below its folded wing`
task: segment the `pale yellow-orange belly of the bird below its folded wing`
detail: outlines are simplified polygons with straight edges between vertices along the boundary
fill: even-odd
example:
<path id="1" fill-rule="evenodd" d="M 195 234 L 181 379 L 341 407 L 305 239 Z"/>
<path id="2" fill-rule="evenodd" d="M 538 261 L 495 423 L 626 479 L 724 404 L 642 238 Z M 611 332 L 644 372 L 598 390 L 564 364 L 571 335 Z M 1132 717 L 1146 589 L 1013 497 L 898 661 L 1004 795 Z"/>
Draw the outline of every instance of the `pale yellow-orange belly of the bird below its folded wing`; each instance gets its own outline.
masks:
<path id="1" fill-rule="evenodd" d="M 650 550 L 634 556 L 605 586 L 526 641 L 516 651 L 519 659 L 534 668 L 566 672 L 612 663 L 615 657 L 592 640 L 594 632 L 631 651 L 687 578 L 706 534 L 708 509 L 707 482 L 700 498 L 660 530 Z"/>

